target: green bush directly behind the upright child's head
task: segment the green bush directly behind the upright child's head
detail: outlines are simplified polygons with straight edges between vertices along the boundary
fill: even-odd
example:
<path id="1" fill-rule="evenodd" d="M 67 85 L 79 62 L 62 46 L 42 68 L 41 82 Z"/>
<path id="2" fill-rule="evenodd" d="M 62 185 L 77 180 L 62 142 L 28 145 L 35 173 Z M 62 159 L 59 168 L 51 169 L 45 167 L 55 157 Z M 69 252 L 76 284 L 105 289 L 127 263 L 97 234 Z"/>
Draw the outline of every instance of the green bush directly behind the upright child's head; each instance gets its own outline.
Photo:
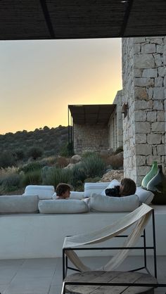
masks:
<path id="1" fill-rule="evenodd" d="M 42 170 L 42 184 L 53 185 L 56 187 L 59 183 L 71 184 L 72 170 L 62 169 L 60 167 L 48 167 Z"/>

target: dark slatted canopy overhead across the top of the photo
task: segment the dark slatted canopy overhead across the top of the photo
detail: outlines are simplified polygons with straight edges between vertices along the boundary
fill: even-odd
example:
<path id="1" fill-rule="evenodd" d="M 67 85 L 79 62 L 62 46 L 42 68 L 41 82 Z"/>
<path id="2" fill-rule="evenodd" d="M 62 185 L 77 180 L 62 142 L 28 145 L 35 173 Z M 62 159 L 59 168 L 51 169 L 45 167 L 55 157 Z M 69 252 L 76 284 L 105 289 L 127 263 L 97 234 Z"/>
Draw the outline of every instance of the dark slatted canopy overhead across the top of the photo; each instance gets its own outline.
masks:
<path id="1" fill-rule="evenodd" d="M 166 0 L 1 0 L 0 39 L 162 36 Z"/>

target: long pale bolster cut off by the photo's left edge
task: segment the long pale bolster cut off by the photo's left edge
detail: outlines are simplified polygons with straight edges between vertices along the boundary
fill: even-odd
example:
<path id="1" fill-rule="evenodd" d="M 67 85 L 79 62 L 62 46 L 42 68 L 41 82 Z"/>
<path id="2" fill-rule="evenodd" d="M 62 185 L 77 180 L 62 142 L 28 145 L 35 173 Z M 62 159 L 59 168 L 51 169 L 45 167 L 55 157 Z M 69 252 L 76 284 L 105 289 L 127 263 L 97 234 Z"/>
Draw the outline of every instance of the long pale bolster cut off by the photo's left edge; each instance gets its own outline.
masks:
<path id="1" fill-rule="evenodd" d="M 38 196 L 0 196 L 0 213 L 36 213 L 39 212 L 38 203 Z"/>

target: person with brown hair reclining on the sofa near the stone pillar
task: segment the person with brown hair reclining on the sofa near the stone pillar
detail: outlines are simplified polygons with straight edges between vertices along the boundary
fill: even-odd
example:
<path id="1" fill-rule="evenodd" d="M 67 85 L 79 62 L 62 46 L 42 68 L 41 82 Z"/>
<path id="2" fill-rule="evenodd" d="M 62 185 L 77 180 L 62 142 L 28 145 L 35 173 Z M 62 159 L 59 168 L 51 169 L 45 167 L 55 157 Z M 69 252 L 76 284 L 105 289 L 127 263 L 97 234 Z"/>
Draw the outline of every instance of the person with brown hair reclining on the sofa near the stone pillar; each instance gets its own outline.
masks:
<path id="1" fill-rule="evenodd" d="M 107 188 L 106 196 L 111 197 L 122 197 L 130 196 L 136 193 L 136 183 L 132 179 L 124 178 L 122 179 L 120 186 L 115 186 L 114 188 Z"/>

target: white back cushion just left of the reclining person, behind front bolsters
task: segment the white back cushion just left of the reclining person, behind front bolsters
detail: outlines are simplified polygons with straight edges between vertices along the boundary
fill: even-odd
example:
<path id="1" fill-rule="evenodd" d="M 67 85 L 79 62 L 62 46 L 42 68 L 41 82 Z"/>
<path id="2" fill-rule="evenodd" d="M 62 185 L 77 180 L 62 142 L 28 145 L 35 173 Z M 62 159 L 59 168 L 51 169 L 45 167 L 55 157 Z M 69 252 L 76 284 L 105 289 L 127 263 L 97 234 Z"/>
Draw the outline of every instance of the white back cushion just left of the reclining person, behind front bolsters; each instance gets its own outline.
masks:
<path id="1" fill-rule="evenodd" d="M 84 184 L 84 197 L 90 197 L 91 193 L 101 194 L 101 192 L 108 186 L 109 182 L 101 183 L 85 183 Z"/>

